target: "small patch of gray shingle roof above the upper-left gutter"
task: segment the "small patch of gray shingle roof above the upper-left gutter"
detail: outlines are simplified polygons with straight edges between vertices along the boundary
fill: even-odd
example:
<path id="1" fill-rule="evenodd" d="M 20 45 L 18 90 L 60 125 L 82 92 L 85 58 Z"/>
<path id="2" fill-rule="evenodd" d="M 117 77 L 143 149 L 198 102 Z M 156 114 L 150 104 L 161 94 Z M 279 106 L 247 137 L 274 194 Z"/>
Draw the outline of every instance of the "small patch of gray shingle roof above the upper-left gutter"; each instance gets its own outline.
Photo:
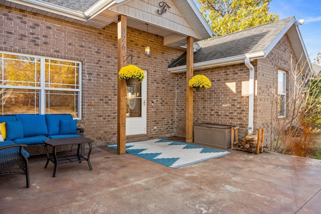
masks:
<path id="1" fill-rule="evenodd" d="M 38 0 L 40 2 L 57 5 L 72 11 L 85 12 L 99 0 Z"/>

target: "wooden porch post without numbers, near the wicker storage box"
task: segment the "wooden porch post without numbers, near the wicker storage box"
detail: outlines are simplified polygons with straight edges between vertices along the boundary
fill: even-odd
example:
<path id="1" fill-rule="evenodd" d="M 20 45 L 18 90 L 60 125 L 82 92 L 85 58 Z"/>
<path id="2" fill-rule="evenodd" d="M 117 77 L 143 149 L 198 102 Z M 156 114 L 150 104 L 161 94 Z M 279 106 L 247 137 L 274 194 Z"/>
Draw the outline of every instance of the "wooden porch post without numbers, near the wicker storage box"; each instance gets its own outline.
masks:
<path id="1" fill-rule="evenodd" d="M 186 57 L 186 142 L 193 142 L 193 89 L 189 87 L 189 80 L 193 77 L 194 38 L 187 38 Z"/>

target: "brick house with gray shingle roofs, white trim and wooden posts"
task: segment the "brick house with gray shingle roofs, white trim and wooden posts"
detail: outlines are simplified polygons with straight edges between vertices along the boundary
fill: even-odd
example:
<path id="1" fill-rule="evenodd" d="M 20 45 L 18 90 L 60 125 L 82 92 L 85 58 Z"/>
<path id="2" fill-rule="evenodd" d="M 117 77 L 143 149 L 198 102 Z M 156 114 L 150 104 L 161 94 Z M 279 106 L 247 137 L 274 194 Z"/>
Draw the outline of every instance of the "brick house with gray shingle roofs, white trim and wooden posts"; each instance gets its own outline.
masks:
<path id="1" fill-rule="evenodd" d="M 71 113 L 97 145 L 191 142 L 202 122 L 268 131 L 267 88 L 291 56 L 307 59 L 294 18 L 199 42 L 213 33 L 191 0 L 0 0 L 0 14 L 2 114 Z M 136 91 L 117 75 L 131 63 L 146 75 Z M 193 70 L 213 85 L 194 97 Z"/>

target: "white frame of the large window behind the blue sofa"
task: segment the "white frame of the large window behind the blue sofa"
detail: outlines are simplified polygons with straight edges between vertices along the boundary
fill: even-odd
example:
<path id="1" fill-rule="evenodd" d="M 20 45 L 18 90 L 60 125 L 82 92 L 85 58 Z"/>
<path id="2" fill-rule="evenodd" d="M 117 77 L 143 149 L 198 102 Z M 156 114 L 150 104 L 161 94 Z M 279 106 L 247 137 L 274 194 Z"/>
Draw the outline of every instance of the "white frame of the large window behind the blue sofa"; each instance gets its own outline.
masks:
<path id="1" fill-rule="evenodd" d="M 39 114 L 46 114 L 46 91 L 73 91 L 78 92 L 78 116 L 74 117 L 74 119 L 81 119 L 81 112 L 82 112 L 82 85 L 81 85 L 81 71 L 82 71 L 82 63 L 80 61 L 73 61 L 73 60 L 65 60 L 59 58 L 51 58 L 51 57 L 43 57 L 38 55 L 31 55 L 31 54 L 21 54 L 15 52 L 5 52 L 0 51 L 0 54 L 9 54 L 9 55 L 17 55 L 17 56 L 26 56 L 26 57 L 35 57 L 40 58 L 40 87 L 36 86 L 10 86 L 10 85 L 0 85 L 1 88 L 5 89 L 30 89 L 30 90 L 39 90 Z M 1 57 L 1 56 L 0 56 Z M 0 58 L 0 60 L 2 57 Z M 51 88 L 45 87 L 45 69 L 46 69 L 46 59 L 48 60 L 57 60 L 57 61 L 64 61 L 64 62 L 71 62 L 71 63 L 78 63 L 79 64 L 79 74 L 78 74 L 78 89 L 71 89 L 71 88 Z M 3 73 L 3 71 L 0 71 Z"/>

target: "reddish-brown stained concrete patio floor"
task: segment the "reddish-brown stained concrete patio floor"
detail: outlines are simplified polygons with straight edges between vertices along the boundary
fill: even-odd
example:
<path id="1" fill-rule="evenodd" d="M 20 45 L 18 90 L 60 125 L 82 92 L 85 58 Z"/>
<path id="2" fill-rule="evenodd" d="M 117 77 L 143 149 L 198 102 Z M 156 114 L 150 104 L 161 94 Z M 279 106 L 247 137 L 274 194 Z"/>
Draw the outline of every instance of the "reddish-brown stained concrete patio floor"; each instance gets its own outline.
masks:
<path id="1" fill-rule="evenodd" d="M 321 213 L 321 160 L 244 151 L 173 169 L 107 146 L 87 162 L 0 176 L 0 213 Z"/>

